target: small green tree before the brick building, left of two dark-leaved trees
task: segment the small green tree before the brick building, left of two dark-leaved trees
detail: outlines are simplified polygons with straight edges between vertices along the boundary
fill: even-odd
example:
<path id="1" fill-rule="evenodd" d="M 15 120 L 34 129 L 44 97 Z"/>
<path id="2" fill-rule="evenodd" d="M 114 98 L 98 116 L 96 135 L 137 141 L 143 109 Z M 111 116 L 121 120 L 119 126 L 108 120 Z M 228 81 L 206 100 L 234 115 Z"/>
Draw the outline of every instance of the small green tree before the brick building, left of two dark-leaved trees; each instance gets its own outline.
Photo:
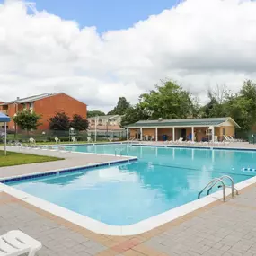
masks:
<path id="1" fill-rule="evenodd" d="M 35 112 L 31 112 L 28 110 L 23 110 L 18 112 L 15 117 L 13 117 L 14 123 L 27 131 L 31 129 L 37 129 L 40 126 L 39 120 L 41 116 L 36 114 Z"/>

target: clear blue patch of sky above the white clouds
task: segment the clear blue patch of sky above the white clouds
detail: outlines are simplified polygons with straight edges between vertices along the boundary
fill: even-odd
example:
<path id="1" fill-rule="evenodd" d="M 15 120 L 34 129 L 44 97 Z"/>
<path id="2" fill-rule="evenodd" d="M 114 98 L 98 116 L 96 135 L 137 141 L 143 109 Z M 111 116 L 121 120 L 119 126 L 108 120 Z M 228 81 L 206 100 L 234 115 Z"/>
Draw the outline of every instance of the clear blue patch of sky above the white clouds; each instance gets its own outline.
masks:
<path id="1" fill-rule="evenodd" d="M 95 26 L 102 33 L 128 29 L 149 15 L 172 8 L 178 0 L 36 0 L 39 11 L 47 10 L 66 20 L 78 22 L 81 28 Z M 3 2 L 3 1 L 2 1 Z"/>

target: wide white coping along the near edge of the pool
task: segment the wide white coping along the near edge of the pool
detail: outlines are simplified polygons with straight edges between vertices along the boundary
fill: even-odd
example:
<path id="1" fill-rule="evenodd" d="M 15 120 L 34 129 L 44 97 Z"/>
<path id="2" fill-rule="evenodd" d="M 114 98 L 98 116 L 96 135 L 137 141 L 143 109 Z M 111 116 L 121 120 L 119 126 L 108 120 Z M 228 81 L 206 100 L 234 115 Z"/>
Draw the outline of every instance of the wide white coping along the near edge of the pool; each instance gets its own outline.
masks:
<path id="1" fill-rule="evenodd" d="M 54 171 L 51 171 L 51 172 L 54 172 Z M 40 172 L 40 173 L 44 173 L 44 172 Z M 236 183 L 235 188 L 237 190 L 242 190 L 254 183 L 256 183 L 256 176 L 248 180 Z M 81 214 L 78 214 L 65 207 L 59 207 L 56 204 L 50 203 L 47 200 L 34 197 L 31 194 L 23 192 L 22 190 L 14 189 L 13 187 L 10 187 L 3 183 L 0 183 L 0 192 L 1 190 L 13 196 L 14 198 L 21 199 L 22 201 L 29 203 L 32 206 L 39 207 L 40 209 L 47 211 L 50 214 L 59 216 L 75 225 L 79 225 L 90 231 L 93 231 L 94 233 L 116 235 L 116 236 L 135 235 L 135 234 L 145 233 L 147 231 L 154 229 L 155 227 L 164 225 L 181 216 L 189 214 L 201 207 L 205 207 L 219 199 L 223 199 L 223 191 L 220 190 L 202 199 L 196 199 L 194 201 L 191 201 L 187 204 L 182 205 L 181 207 L 172 208 L 171 210 L 168 210 L 156 216 L 151 216 L 133 225 L 107 225 L 98 220 L 90 218 L 88 216 L 83 216 Z M 226 188 L 226 196 L 230 194 L 231 194 L 231 189 Z"/>

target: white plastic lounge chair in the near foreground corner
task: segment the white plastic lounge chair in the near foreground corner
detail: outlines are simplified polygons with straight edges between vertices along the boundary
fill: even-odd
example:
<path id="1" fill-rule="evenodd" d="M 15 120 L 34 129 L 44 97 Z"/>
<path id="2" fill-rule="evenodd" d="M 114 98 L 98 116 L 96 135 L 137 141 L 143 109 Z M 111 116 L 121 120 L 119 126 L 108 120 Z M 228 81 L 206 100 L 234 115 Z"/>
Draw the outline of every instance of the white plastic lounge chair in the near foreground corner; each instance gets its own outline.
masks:
<path id="1" fill-rule="evenodd" d="M 0 236 L 0 255 L 18 256 L 28 253 L 34 256 L 42 244 L 20 230 L 13 230 Z"/>

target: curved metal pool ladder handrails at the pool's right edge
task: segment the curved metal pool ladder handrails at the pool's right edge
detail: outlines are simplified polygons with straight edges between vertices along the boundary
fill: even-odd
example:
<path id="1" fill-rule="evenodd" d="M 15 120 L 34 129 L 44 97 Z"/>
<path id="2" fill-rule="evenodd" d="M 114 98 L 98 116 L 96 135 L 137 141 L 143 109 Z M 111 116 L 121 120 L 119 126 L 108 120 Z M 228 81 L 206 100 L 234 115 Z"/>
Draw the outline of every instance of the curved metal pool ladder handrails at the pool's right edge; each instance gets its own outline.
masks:
<path id="1" fill-rule="evenodd" d="M 225 185 L 224 180 L 226 180 L 226 179 L 231 181 L 231 186 Z M 222 188 L 222 190 L 223 190 L 223 200 L 224 201 L 225 201 L 225 188 L 231 189 L 232 198 L 234 198 L 234 190 L 235 190 L 236 195 L 238 195 L 238 190 L 234 188 L 234 180 L 230 176 L 224 175 L 224 176 L 221 176 L 219 178 L 215 178 L 215 179 L 209 181 L 207 183 L 207 185 L 199 192 L 198 199 L 200 198 L 201 194 L 205 190 L 207 190 L 207 195 L 209 195 L 210 191 L 213 189 L 214 186 L 216 186 L 217 183 L 221 184 L 221 185 L 218 185 L 218 188 Z"/>

